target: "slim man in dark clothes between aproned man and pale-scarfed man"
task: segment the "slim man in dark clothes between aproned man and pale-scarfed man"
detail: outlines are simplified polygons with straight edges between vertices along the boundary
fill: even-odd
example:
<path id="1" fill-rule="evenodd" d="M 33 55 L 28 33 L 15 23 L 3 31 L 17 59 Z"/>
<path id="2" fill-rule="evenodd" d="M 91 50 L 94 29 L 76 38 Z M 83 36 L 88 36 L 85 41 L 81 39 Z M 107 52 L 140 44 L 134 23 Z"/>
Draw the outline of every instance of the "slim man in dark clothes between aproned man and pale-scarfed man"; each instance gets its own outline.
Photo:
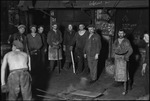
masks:
<path id="1" fill-rule="evenodd" d="M 73 30 L 73 26 L 72 26 L 72 24 L 69 24 L 67 30 L 65 31 L 64 41 L 63 41 L 63 50 L 65 51 L 64 69 L 70 68 L 71 51 L 70 51 L 69 47 L 72 43 L 74 35 L 75 35 L 75 31 Z"/>

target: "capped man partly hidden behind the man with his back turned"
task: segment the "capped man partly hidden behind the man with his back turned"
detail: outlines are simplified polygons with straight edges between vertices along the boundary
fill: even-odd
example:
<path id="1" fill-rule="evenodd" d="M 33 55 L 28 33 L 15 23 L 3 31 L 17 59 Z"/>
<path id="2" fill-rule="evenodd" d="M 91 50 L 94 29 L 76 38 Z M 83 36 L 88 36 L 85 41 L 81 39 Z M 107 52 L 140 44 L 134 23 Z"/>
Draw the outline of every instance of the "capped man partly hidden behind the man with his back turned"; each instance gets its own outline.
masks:
<path id="1" fill-rule="evenodd" d="M 28 53 L 27 39 L 26 39 L 26 35 L 24 34 L 26 27 L 25 25 L 19 25 L 17 28 L 18 28 L 18 32 L 9 36 L 8 43 L 12 44 L 14 40 L 19 40 L 24 45 L 23 51 Z"/>

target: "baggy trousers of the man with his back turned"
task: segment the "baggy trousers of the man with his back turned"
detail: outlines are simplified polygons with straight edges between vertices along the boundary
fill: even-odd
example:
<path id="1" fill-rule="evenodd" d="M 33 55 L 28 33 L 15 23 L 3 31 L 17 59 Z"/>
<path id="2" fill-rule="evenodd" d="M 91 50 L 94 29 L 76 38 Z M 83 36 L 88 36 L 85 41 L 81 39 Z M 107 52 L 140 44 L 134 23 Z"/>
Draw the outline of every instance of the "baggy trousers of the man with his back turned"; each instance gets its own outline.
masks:
<path id="1" fill-rule="evenodd" d="M 20 92 L 23 100 L 32 99 L 31 76 L 27 71 L 16 70 L 11 72 L 8 76 L 8 88 L 8 100 L 10 101 L 16 101 Z"/>

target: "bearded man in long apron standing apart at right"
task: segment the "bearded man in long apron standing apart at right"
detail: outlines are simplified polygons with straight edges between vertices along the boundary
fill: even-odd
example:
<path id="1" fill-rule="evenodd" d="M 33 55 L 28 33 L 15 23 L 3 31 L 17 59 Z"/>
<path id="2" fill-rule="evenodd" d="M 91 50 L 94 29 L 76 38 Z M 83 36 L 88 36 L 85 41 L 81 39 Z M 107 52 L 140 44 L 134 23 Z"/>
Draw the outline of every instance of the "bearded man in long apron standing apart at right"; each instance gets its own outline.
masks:
<path id="1" fill-rule="evenodd" d="M 123 82 L 124 91 L 122 94 L 125 95 L 127 93 L 127 81 L 129 80 L 127 62 L 133 53 L 133 49 L 130 41 L 125 38 L 124 30 L 119 30 L 118 36 L 119 38 L 117 38 L 112 45 L 112 57 L 115 59 L 114 78 L 116 83 L 114 84 L 116 86 L 119 82 Z"/>

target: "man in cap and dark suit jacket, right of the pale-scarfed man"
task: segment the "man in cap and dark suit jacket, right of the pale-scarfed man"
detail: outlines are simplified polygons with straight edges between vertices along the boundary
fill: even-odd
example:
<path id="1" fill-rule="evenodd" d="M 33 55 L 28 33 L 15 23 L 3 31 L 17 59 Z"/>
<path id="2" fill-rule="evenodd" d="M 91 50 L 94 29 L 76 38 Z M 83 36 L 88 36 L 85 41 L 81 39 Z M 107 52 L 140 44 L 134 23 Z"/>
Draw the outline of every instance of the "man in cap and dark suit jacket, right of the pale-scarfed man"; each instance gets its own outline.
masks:
<path id="1" fill-rule="evenodd" d="M 94 25 L 89 25 L 88 31 L 90 34 L 84 47 L 84 57 L 88 60 L 90 82 L 94 82 L 97 80 L 98 56 L 102 46 L 100 36 L 95 32 Z"/>

